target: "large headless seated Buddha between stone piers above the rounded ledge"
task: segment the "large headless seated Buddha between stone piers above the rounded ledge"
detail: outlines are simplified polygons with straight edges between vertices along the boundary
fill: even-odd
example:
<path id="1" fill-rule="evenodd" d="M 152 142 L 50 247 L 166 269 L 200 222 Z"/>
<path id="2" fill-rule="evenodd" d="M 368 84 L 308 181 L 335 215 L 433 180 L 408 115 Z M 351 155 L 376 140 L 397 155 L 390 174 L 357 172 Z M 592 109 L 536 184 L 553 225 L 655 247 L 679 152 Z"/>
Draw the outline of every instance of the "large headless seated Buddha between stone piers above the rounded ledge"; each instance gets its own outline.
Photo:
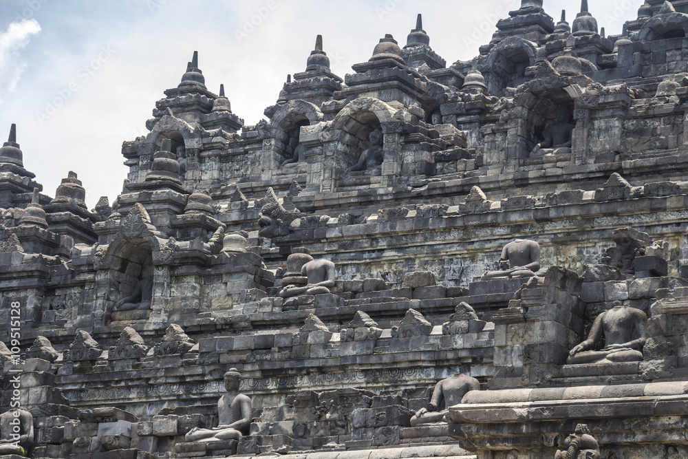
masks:
<path id="1" fill-rule="evenodd" d="M 591 350 L 603 333 L 605 347 L 599 351 Z M 588 339 L 571 350 L 566 363 L 641 361 L 643 360 L 643 345 L 647 337 L 645 312 L 623 306 L 619 301 L 614 308 L 596 317 Z"/>

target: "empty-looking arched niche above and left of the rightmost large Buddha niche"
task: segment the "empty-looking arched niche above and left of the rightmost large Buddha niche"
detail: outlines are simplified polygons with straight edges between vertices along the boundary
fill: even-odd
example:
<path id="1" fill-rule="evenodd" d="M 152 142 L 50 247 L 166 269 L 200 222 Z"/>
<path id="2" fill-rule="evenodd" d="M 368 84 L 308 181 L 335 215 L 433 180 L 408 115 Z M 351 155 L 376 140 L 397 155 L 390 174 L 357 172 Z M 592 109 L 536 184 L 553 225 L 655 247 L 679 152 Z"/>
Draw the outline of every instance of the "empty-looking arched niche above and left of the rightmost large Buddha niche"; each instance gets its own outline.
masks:
<path id="1" fill-rule="evenodd" d="M 507 87 L 518 87 L 528 81 L 526 68 L 535 64 L 535 45 L 510 37 L 497 44 L 480 70 L 490 94 L 502 97 Z"/>

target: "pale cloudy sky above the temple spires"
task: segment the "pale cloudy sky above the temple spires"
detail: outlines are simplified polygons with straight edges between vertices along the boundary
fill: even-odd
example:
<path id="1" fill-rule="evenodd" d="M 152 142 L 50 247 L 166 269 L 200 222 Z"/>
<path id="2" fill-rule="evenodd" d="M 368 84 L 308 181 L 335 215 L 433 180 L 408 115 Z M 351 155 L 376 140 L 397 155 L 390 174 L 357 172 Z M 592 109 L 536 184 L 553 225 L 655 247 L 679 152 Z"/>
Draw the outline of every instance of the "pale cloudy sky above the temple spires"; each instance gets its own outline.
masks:
<path id="1" fill-rule="evenodd" d="M 642 0 L 590 0 L 607 34 L 621 33 Z M 194 50 L 208 89 L 224 83 L 235 114 L 253 125 L 287 74 L 303 72 L 323 35 L 332 71 L 352 73 L 378 40 L 401 46 L 423 14 L 447 65 L 488 43 L 520 0 L 2 0 L 0 137 L 17 123 L 24 166 L 54 195 L 72 170 L 91 209 L 119 193 L 122 142 L 147 134 L 155 101 L 176 87 Z M 544 0 L 572 22 L 580 1 Z"/>

